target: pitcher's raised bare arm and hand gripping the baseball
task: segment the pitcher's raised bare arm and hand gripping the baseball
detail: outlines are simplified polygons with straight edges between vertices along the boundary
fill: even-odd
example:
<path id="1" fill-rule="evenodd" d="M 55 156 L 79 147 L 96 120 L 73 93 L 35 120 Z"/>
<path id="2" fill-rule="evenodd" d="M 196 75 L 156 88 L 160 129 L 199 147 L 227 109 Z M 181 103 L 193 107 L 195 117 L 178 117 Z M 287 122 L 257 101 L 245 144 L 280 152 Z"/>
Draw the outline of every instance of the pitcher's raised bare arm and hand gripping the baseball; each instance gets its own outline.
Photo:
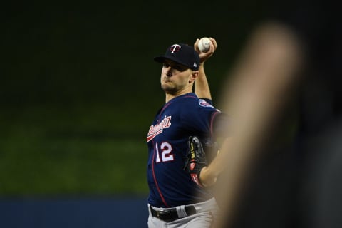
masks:
<path id="1" fill-rule="evenodd" d="M 207 81 L 207 76 L 206 76 L 206 73 L 204 71 L 204 63 L 205 63 L 205 61 L 207 61 L 208 58 L 210 58 L 212 56 L 214 51 L 216 51 L 217 42 L 214 38 L 210 37 L 209 39 L 212 42 L 210 43 L 209 51 L 207 51 L 205 53 L 202 51 L 199 51 L 199 48 L 198 48 L 199 39 L 198 38 L 194 44 L 195 50 L 199 54 L 199 58 L 200 58 L 199 73 L 198 73 L 198 76 L 197 76 L 196 81 L 195 81 L 195 94 L 199 98 L 206 98 L 206 99 L 212 100 L 212 95 L 210 93 L 209 83 Z"/>

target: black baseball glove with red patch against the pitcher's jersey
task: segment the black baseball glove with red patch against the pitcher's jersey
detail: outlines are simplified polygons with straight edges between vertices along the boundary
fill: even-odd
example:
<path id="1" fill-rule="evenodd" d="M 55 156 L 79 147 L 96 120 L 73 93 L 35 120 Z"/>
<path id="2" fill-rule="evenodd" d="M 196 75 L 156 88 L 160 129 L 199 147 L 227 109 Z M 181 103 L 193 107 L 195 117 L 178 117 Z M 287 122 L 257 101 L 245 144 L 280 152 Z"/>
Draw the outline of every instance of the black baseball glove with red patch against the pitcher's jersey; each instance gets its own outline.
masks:
<path id="1" fill-rule="evenodd" d="M 204 166 L 207 166 L 207 156 L 202 147 L 202 143 L 196 136 L 190 136 L 188 140 L 189 150 L 185 159 L 183 170 L 190 173 L 192 180 L 202 187 L 199 182 L 199 174 Z"/>

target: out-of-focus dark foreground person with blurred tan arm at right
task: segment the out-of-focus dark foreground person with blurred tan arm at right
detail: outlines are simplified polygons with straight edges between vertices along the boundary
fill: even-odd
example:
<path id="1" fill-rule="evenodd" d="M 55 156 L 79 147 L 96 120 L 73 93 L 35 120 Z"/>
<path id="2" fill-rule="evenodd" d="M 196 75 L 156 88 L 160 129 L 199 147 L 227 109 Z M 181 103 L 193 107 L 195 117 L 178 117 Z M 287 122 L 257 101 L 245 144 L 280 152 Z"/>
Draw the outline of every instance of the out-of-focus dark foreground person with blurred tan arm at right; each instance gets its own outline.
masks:
<path id="1" fill-rule="evenodd" d="M 341 14 L 332 1 L 270 8 L 222 95 L 234 136 L 213 227 L 342 227 Z"/>

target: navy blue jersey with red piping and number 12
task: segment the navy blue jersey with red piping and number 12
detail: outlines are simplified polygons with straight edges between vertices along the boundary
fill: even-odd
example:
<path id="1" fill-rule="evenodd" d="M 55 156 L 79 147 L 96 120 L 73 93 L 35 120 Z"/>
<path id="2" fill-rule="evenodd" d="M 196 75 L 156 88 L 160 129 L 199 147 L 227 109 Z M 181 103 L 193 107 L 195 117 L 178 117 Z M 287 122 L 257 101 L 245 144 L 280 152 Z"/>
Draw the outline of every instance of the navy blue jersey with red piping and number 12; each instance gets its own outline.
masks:
<path id="1" fill-rule="evenodd" d="M 220 113 L 195 93 L 173 98 L 158 111 L 147 133 L 147 202 L 155 207 L 176 207 L 202 202 L 212 193 L 202 189 L 183 170 L 188 138 L 207 138 Z"/>

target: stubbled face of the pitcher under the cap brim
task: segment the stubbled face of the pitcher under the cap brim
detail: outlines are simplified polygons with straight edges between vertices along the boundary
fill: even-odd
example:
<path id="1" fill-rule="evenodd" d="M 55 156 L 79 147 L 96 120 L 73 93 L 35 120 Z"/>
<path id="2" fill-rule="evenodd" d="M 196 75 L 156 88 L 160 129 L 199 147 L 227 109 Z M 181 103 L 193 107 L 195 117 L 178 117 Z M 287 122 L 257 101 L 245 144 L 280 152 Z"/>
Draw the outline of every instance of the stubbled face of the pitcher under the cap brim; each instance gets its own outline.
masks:
<path id="1" fill-rule="evenodd" d="M 193 71 L 180 63 L 166 60 L 162 64 L 160 83 L 166 93 L 177 95 L 182 91 L 192 90 L 192 83 L 195 81 Z"/>

